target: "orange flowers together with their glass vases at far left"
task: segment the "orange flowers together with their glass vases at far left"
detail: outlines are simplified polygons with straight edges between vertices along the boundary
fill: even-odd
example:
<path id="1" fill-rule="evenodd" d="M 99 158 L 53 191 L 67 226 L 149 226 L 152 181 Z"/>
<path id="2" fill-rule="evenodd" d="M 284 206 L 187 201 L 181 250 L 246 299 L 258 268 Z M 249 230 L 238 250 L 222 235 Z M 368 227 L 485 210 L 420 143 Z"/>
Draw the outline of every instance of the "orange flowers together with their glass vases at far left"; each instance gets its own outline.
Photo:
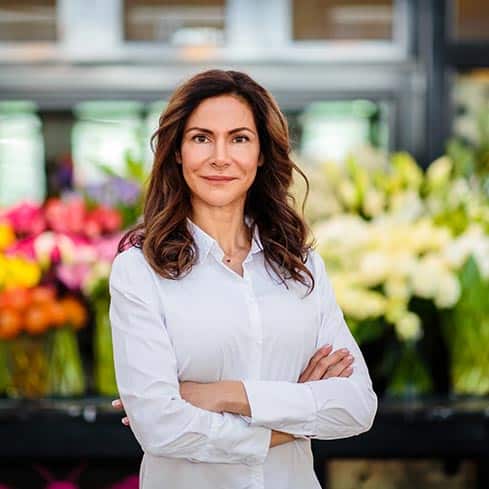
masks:
<path id="1" fill-rule="evenodd" d="M 9 282 L 11 284 L 11 282 Z M 76 330 L 86 310 L 48 286 L 0 293 L 2 387 L 10 397 L 80 395 L 85 379 Z"/>

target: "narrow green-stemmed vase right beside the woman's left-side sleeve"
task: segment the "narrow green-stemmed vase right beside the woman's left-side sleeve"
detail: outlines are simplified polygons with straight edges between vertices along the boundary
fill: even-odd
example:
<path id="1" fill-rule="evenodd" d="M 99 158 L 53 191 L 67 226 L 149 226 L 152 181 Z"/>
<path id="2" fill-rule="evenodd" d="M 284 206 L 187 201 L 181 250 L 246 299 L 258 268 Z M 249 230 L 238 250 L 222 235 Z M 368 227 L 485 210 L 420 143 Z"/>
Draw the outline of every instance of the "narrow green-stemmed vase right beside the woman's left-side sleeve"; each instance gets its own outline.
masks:
<path id="1" fill-rule="evenodd" d="M 97 300 L 95 309 L 95 388 L 104 396 L 117 395 L 109 319 L 109 301 Z"/>

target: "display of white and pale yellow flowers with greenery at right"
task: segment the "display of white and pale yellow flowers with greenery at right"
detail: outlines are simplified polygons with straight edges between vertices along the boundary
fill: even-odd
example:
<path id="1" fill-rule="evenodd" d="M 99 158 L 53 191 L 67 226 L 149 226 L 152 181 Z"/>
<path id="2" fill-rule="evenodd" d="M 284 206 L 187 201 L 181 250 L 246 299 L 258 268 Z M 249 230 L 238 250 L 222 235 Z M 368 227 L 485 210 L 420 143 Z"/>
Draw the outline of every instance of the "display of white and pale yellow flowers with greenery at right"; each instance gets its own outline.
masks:
<path id="1" fill-rule="evenodd" d="M 458 158 L 423 172 L 367 147 L 309 169 L 318 250 L 357 340 L 386 341 L 373 370 L 388 395 L 436 391 L 444 355 L 454 394 L 489 393 L 489 202 Z"/>

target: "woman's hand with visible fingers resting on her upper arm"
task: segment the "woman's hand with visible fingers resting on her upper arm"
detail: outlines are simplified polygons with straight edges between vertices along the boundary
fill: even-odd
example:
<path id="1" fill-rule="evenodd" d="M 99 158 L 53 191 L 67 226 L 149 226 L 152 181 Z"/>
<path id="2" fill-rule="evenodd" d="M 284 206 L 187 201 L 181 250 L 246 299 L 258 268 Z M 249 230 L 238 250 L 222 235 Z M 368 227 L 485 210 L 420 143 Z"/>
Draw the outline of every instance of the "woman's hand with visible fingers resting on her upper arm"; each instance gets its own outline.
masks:
<path id="1" fill-rule="evenodd" d="M 320 348 L 309 360 L 307 367 L 299 377 L 299 383 L 330 377 L 349 377 L 353 368 L 353 356 L 346 348 L 331 353 L 332 345 Z M 330 355 L 331 353 L 331 355 Z"/>

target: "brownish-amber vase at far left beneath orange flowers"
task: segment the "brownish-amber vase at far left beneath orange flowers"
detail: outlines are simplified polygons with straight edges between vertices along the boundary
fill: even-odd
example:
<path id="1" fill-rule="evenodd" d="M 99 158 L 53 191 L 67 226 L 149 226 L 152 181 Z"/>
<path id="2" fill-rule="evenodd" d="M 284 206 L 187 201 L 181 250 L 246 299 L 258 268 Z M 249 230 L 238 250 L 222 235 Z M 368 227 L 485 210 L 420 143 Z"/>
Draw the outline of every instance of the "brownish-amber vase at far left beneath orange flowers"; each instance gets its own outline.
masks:
<path id="1" fill-rule="evenodd" d="M 8 397 L 36 399 L 50 394 L 48 335 L 22 333 L 5 344 Z"/>

